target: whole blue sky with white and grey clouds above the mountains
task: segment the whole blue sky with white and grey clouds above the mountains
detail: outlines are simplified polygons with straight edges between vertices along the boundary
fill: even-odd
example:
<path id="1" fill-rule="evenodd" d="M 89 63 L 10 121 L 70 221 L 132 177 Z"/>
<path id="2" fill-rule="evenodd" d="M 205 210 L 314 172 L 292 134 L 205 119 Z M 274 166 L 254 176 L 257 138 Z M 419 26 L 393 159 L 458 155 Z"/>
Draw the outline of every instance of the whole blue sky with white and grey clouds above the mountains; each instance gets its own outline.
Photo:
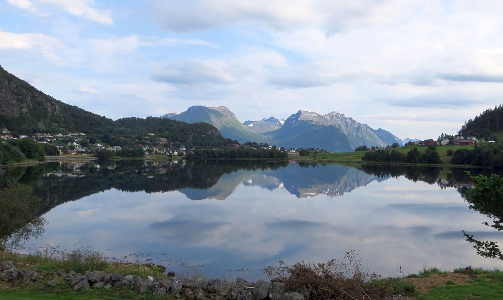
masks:
<path id="1" fill-rule="evenodd" d="M 499 1 L 0 0 L 0 65 L 119 119 L 337 111 L 400 138 L 503 103 Z"/>

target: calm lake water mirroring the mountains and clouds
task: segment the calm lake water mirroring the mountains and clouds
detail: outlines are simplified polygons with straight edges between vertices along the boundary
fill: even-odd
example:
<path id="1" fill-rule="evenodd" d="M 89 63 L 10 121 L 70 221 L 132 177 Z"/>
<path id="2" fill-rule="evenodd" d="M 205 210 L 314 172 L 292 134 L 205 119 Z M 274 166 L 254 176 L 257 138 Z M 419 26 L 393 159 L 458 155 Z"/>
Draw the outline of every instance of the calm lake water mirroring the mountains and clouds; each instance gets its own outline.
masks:
<path id="1" fill-rule="evenodd" d="M 250 280 L 279 260 L 323 262 L 350 250 L 385 276 L 502 266 L 478 257 L 461 232 L 501 239 L 468 208 L 462 169 L 97 161 L 13 168 L 8 179 L 34 187 L 47 221 L 20 252 L 77 244 L 179 274 Z"/>

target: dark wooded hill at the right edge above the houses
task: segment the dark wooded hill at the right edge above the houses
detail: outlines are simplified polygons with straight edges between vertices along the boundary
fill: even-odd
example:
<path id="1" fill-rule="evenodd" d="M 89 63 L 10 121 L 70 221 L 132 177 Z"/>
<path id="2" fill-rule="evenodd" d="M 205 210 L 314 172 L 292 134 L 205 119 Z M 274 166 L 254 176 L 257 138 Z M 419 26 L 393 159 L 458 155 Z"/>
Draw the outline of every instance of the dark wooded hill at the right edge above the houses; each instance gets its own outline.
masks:
<path id="1" fill-rule="evenodd" d="M 473 120 L 469 120 L 460 133 L 466 136 L 489 139 L 491 133 L 503 130 L 503 107 L 488 109 Z"/>

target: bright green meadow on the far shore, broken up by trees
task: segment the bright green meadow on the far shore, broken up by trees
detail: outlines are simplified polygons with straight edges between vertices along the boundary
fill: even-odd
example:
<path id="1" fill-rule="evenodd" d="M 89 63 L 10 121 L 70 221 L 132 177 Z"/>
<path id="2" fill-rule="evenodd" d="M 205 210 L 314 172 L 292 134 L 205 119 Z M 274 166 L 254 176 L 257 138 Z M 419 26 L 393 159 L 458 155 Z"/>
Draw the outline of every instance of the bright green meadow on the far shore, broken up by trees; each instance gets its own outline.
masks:
<path id="1" fill-rule="evenodd" d="M 412 148 L 417 148 L 420 153 L 424 153 L 427 146 L 413 145 L 404 146 L 391 150 L 398 150 L 398 152 L 407 154 Z M 452 149 L 454 152 L 458 149 L 473 149 L 473 146 L 439 146 L 437 147 L 437 152 L 442 159 L 443 163 L 440 165 L 450 165 L 452 156 L 447 156 L 447 151 Z M 375 150 L 374 150 L 375 151 Z M 362 163 L 362 156 L 365 152 L 343 152 L 343 153 L 317 153 L 311 152 L 309 156 L 290 156 L 290 159 L 298 161 L 326 161 L 326 162 L 338 162 L 338 163 Z"/>

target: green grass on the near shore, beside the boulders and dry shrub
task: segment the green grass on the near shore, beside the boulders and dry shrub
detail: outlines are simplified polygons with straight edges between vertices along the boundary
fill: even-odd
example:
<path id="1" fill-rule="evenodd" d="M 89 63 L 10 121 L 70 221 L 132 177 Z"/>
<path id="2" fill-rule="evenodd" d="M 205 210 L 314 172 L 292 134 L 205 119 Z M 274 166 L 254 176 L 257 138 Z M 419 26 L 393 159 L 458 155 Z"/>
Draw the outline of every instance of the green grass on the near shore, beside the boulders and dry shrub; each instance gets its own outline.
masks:
<path id="1" fill-rule="evenodd" d="M 19 269 L 29 268 L 37 272 L 45 272 L 46 280 L 21 284 L 2 290 L 0 298 L 11 299 L 175 299 L 175 295 L 156 297 L 151 294 L 138 294 L 129 287 L 111 289 L 74 290 L 67 283 L 50 286 L 47 284 L 52 274 L 68 272 L 69 270 L 83 273 L 85 271 L 101 270 L 105 273 L 123 273 L 138 275 L 142 278 L 153 276 L 163 278 L 165 275 L 158 269 L 142 265 L 124 265 L 110 263 L 96 253 L 89 251 L 74 251 L 70 254 L 51 258 L 42 255 L 21 255 L 16 253 L 0 253 L 0 262 L 14 260 Z M 416 274 L 401 278 L 374 279 L 366 284 L 369 286 L 391 286 L 392 293 L 400 293 L 410 299 L 500 299 L 503 298 L 503 272 L 499 270 L 484 270 L 458 268 L 453 271 L 441 271 L 436 267 L 424 268 Z"/>

